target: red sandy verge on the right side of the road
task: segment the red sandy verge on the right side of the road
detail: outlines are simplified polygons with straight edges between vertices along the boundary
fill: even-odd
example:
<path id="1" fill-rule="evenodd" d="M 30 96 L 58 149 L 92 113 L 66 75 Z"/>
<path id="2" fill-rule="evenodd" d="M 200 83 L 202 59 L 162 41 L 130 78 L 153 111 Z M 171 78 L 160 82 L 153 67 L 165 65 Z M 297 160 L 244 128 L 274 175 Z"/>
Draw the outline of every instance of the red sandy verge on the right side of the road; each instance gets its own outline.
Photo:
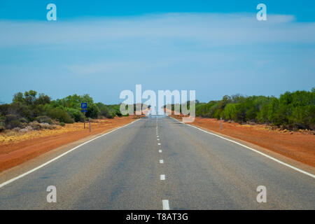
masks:
<path id="1" fill-rule="evenodd" d="M 173 116 L 180 118 L 180 116 Z M 267 148 L 293 160 L 315 167 L 315 135 L 300 132 L 269 130 L 265 125 L 239 125 L 213 118 L 195 118 L 191 125 L 222 133 Z"/>

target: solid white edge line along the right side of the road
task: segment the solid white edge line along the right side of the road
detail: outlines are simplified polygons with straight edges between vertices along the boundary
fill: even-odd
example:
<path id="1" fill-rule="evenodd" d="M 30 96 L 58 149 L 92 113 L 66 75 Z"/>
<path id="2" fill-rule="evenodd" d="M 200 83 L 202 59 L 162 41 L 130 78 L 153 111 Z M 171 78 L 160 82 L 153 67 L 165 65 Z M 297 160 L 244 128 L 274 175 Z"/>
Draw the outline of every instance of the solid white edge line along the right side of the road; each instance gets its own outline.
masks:
<path id="1" fill-rule="evenodd" d="M 186 123 L 180 122 L 179 120 L 177 120 L 177 119 L 175 119 L 175 118 L 173 118 L 173 119 L 176 120 L 176 121 L 179 122 L 179 123 L 188 125 L 188 124 L 186 124 Z M 188 125 L 188 126 L 190 126 L 190 127 L 195 127 L 194 125 Z M 297 168 L 297 167 L 293 167 L 292 165 L 288 165 L 286 162 L 282 162 L 281 160 L 278 160 L 278 159 L 276 159 L 276 158 L 273 158 L 273 157 L 270 156 L 270 155 L 267 155 L 267 154 L 262 153 L 262 152 L 260 152 L 260 151 L 258 151 L 258 150 L 255 150 L 255 149 L 253 149 L 253 148 L 251 148 L 251 147 L 248 147 L 248 146 L 245 146 L 245 145 L 243 145 L 243 144 L 240 144 L 240 143 L 237 142 L 237 141 L 233 141 L 233 140 L 231 140 L 231 139 L 227 139 L 227 138 L 225 138 L 225 137 L 222 137 L 222 136 L 220 136 L 220 135 L 218 135 L 218 134 L 214 134 L 214 133 L 211 133 L 211 132 L 207 132 L 206 130 L 202 130 L 202 129 L 199 128 L 199 127 L 195 127 L 195 128 L 196 128 L 197 130 L 202 131 L 202 132 L 206 132 L 206 133 L 208 133 L 208 134 L 212 134 L 212 135 L 214 135 L 214 136 L 216 136 L 216 137 L 219 137 L 219 138 L 221 138 L 221 139 L 225 139 L 225 140 L 227 140 L 227 141 L 230 141 L 230 142 L 232 142 L 232 143 L 234 143 L 234 144 L 237 144 L 237 145 L 239 145 L 239 146 L 243 146 L 244 148 L 248 148 L 249 150 L 254 151 L 255 153 L 259 153 L 260 155 L 263 155 L 263 156 L 269 158 L 270 160 L 274 160 L 275 162 L 278 162 L 278 163 L 280 163 L 280 164 L 283 165 L 283 166 L 290 167 L 291 169 L 294 169 L 294 170 L 297 171 L 297 172 L 300 172 L 300 173 L 302 173 L 302 174 L 306 174 L 307 176 L 311 176 L 312 178 L 315 179 L 315 175 L 314 175 L 314 174 L 311 174 L 311 173 L 309 173 L 309 172 L 306 172 L 306 171 L 304 171 L 304 170 L 302 170 L 302 169 L 299 169 L 299 168 Z"/>

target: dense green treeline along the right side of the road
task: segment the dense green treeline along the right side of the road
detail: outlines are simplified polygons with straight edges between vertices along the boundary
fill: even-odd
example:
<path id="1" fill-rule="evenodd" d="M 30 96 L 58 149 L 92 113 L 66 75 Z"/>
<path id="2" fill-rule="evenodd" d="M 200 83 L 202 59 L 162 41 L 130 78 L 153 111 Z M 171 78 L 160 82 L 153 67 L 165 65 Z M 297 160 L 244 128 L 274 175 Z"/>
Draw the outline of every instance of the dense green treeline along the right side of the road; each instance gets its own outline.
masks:
<path id="1" fill-rule="evenodd" d="M 196 101 L 196 116 L 237 123 L 260 123 L 288 130 L 315 129 L 315 88 L 285 92 L 280 97 L 225 95 L 219 101 Z M 174 109 L 174 105 L 172 106 Z"/>

